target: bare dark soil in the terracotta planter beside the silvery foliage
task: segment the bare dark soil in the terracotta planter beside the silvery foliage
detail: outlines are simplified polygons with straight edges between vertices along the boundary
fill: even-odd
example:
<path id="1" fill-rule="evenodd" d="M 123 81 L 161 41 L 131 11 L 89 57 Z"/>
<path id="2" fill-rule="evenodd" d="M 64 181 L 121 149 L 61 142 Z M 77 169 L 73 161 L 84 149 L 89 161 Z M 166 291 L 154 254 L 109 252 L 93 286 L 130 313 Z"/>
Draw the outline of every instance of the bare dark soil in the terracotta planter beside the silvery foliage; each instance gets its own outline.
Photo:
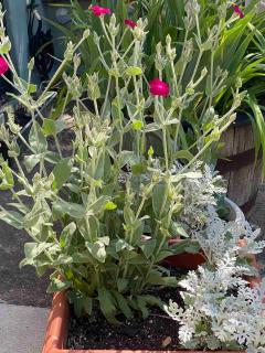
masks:
<path id="1" fill-rule="evenodd" d="M 181 303 L 179 290 L 157 292 L 165 303 L 172 299 Z M 73 350 L 161 350 L 179 349 L 179 325 L 162 309 L 150 308 L 148 319 L 140 315 L 115 327 L 98 313 L 93 318 L 77 319 L 72 310 L 67 347 Z"/>

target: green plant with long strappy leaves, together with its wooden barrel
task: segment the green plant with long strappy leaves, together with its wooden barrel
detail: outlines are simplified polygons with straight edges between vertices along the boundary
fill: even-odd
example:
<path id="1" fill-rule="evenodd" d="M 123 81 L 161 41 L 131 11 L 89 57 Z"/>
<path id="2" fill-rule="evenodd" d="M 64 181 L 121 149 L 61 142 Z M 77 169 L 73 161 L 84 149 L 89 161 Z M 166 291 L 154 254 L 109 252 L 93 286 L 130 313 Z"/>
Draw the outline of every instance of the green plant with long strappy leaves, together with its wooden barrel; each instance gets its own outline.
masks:
<path id="1" fill-rule="evenodd" d="M 264 171 L 262 149 L 264 146 L 263 105 L 264 96 L 264 13 L 255 11 L 252 1 L 244 7 L 242 3 L 231 1 L 103 1 L 102 6 L 115 10 L 120 23 L 128 15 L 135 21 L 137 18 L 148 19 L 147 40 L 144 47 L 148 55 L 145 74 L 148 79 L 156 73 L 152 54 L 158 42 L 165 43 L 167 34 L 170 33 L 172 45 L 177 49 L 176 76 L 179 89 L 187 87 L 193 75 L 193 67 L 198 65 L 198 72 L 203 67 L 208 74 L 200 84 L 201 95 L 198 104 L 191 101 L 187 108 L 180 109 L 182 128 L 189 133 L 182 135 L 179 145 L 186 149 L 194 143 L 204 129 L 204 122 L 218 117 L 231 105 L 231 95 L 236 84 L 242 84 L 247 95 L 239 107 L 236 121 L 223 135 L 218 153 L 211 153 L 212 160 L 218 162 L 218 170 L 227 179 L 229 196 L 236 202 L 245 213 L 248 213 L 255 204 L 258 185 Z M 100 33 L 100 26 L 95 17 L 87 8 L 73 0 L 70 6 L 71 20 L 67 28 L 53 23 L 46 19 L 49 24 L 54 24 L 68 40 L 78 42 L 82 29 L 87 24 Z M 129 14 L 128 14 L 129 13 Z M 198 25 L 195 25 L 195 22 Z M 159 23 L 159 25 L 158 25 Z M 128 33 L 125 34 L 129 41 Z M 198 42 L 200 39 L 201 43 Z M 102 35 L 102 45 L 107 47 L 107 40 Z M 234 55 L 231 55 L 233 47 Z M 191 52 L 190 61 L 182 65 L 179 60 L 181 51 Z M 81 56 L 87 72 L 102 71 L 102 89 L 106 89 L 108 75 L 104 75 L 102 62 L 98 60 L 97 49 L 94 41 L 88 39 L 81 47 Z M 93 62 L 93 65 L 91 63 Z M 223 85 L 211 87 L 220 67 L 223 72 Z M 103 69 L 102 69 L 103 68 Z M 85 75 L 83 76 L 85 79 Z M 168 77 L 170 79 L 170 77 Z M 210 94 L 209 94 L 210 93 Z M 65 96 L 65 88 L 62 95 Z M 214 108 L 212 115 L 204 114 L 206 108 Z M 55 109 L 54 116 L 60 113 Z M 201 116 L 201 119 L 198 119 Z M 204 116 L 204 117 L 203 117 Z M 186 138 L 184 138 L 186 136 Z M 225 145 L 225 146 L 224 146 Z M 213 146 L 213 151 L 216 151 Z M 208 156 L 209 157 L 209 156 Z M 240 180 L 240 181 L 239 181 Z M 242 193 L 242 190 L 244 192 Z"/>

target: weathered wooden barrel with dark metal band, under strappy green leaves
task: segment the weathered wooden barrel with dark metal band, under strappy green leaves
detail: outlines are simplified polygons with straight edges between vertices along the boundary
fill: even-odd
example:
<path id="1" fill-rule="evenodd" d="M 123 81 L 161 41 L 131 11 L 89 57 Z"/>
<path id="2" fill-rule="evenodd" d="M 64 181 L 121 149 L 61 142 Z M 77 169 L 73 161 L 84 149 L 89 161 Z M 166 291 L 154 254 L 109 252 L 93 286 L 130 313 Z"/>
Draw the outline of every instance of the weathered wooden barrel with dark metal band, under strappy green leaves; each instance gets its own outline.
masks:
<path id="1" fill-rule="evenodd" d="M 255 204 L 262 183 L 262 156 L 255 163 L 255 145 L 251 122 L 234 124 L 222 136 L 224 147 L 216 169 L 227 181 L 227 196 L 245 214 Z"/>

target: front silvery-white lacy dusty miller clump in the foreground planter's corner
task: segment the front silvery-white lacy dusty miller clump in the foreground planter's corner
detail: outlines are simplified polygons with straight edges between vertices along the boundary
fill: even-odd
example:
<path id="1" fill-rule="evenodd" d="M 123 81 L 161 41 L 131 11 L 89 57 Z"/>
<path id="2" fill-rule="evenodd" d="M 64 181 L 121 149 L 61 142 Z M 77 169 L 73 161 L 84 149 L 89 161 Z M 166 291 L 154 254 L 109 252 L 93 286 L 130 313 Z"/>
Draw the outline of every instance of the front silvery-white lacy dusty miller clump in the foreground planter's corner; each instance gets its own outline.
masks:
<path id="1" fill-rule="evenodd" d="M 216 268 L 199 267 L 180 281 L 184 307 L 170 301 L 166 310 L 179 321 L 184 347 L 264 352 L 265 281 L 251 288 L 246 274 L 227 252 Z"/>

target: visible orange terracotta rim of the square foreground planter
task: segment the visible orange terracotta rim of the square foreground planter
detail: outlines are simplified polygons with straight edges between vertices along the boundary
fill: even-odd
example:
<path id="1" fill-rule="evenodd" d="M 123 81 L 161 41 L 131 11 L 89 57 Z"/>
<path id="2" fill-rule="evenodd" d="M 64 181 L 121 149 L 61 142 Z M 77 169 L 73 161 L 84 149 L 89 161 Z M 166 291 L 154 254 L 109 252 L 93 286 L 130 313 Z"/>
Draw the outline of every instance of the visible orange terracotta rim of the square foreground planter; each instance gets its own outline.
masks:
<path id="1" fill-rule="evenodd" d="M 193 269 L 197 267 L 197 260 L 191 263 Z M 253 257 L 254 265 L 256 266 L 255 257 Z M 250 278 L 251 287 L 254 287 L 261 280 L 258 278 Z M 67 325 L 70 319 L 70 307 L 66 299 L 66 292 L 55 293 L 51 313 L 47 321 L 45 333 L 44 346 L 42 353 L 149 353 L 149 351 L 130 351 L 130 350 L 66 350 L 65 343 L 67 340 Z M 151 351 L 150 353 L 162 353 L 169 351 Z M 189 351 L 201 352 L 206 351 Z M 210 352 L 210 351 L 209 351 Z M 170 353 L 187 353 L 187 350 L 170 351 Z M 239 353 L 239 351 L 215 351 L 215 353 Z"/>

